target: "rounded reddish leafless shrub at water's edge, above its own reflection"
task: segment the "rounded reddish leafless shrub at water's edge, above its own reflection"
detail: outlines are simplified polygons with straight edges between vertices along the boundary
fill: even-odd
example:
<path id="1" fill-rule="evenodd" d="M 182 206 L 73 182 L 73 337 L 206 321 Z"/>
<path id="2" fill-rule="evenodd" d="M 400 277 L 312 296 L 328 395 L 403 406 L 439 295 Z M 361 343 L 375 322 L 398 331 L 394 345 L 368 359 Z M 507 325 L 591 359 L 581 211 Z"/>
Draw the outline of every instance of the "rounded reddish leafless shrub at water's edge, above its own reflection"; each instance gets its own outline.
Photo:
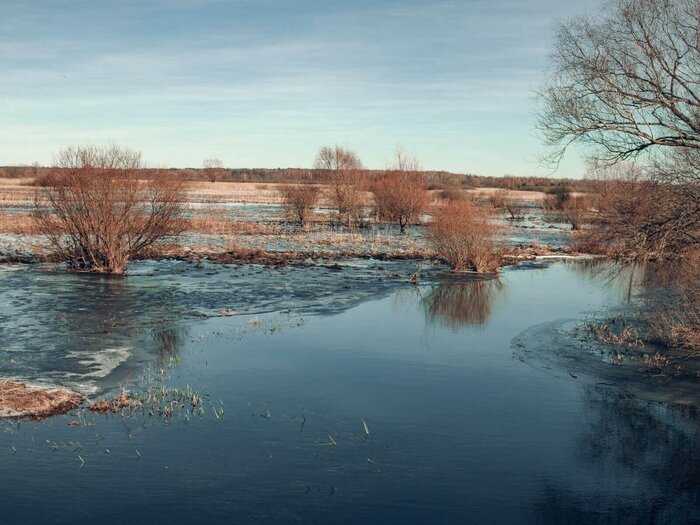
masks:
<path id="1" fill-rule="evenodd" d="M 501 249 L 494 241 L 490 213 L 465 201 L 450 201 L 436 210 L 428 239 L 453 270 L 498 271 Z"/>

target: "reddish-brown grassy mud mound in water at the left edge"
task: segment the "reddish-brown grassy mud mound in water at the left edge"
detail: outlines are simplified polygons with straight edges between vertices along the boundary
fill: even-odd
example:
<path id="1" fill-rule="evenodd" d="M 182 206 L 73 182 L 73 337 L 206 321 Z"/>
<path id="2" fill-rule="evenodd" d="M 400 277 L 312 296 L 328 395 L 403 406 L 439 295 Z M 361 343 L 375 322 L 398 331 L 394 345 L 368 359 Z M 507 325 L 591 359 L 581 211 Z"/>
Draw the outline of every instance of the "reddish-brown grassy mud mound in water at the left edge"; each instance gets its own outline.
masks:
<path id="1" fill-rule="evenodd" d="M 0 381 L 0 418 L 45 419 L 80 406 L 83 397 L 62 388 Z"/>

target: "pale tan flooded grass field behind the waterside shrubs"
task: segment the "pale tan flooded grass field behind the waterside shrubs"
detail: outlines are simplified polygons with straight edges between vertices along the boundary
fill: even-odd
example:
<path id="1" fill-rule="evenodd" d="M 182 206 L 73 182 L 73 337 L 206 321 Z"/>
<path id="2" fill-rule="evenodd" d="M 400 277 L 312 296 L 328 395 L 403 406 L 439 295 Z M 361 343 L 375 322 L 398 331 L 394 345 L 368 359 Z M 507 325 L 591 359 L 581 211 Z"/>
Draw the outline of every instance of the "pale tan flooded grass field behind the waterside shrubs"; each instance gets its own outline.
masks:
<path id="1" fill-rule="evenodd" d="M 300 229 L 293 221 L 281 221 L 284 217 L 283 208 L 270 211 L 266 216 L 255 217 L 232 209 L 229 204 L 251 205 L 281 205 L 278 188 L 280 183 L 260 182 L 187 182 L 185 191 L 187 201 L 193 206 L 189 208 L 185 219 L 181 239 L 171 239 L 159 243 L 149 256 L 175 255 L 187 258 L 205 257 L 208 255 L 235 252 L 235 256 L 224 256 L 235 261 L 258 260 L 273 261 L 277 264 L 279 257 L 289 257 L 295 260 L 295 254 L 300 257 L 305 254 L 335 253 L 336 256 L 372 256 L 379 258 L 405 257 L 407 254 L 421 254 L 431 258 L 432 250 L 426 242 L 414 235 L 398 235 L 390 231 L 369 234 L 367 230 L 348 229 L 337 224 L 334 216 L 328 213 L 312 211 L 305 227 Z M 518 191 L 498 188 L 478 188 L 459 190 L 467 198 L 488 205 L 489 197 L 496 192 L 509 201 L 532 202 L 541 205 L 546 194 L 539 191 Z M 0 179 L 0 246 L 20 249 L 37 257 L 48 253 L 48 248 L 37 236 L 37 225 L 31 214 L 34 203 L 35 187 L 32 179 Z M 432 204 L 427 210 L 434 214 L 436 208 L 442 208 L 443 190 L 431 190 Z M 366 193 L 366 202 L 372 202 L 372 196 Z M 204 205 L 204 206 L 201 206 Z M 321 198 L 318 205 L 321 208 L 330 207 L 327 199 Z M 23 207 L 26 210 L 3 211 L 3 208 Z M 432 210 L 432 211 L 431 211 Z M 371 219 L 374 220 L 374 217 Z M 397 227 L 398 228 L 398 227 Z M 415 227 L 409 226 L 409 233 L 416 232 Z M 176 242 L 178 246 L 169 243 Z M 265 255 L 251 256 L 246 251 L 262 250 Z M 242 252 L 244 255 L 240 255 Z M 555 250 L 557 253 L 560 250 Z M 157 253 L 156 253 L 157 252 Z M 261 253 L 262 253 L 261 252 Z M 273 257 L 270 253 L 275 252 Z M 252 253 L 252 252 L 251 252 Z M 257 252 L 256 252 L 257 253 Z M 282 255 L 282 254 L 286 255 Z M 547 247 L 529 249 L 521 247 L 510 253 L 509 261 L 530 258 L 541 253 L 552 253 Z"/>

